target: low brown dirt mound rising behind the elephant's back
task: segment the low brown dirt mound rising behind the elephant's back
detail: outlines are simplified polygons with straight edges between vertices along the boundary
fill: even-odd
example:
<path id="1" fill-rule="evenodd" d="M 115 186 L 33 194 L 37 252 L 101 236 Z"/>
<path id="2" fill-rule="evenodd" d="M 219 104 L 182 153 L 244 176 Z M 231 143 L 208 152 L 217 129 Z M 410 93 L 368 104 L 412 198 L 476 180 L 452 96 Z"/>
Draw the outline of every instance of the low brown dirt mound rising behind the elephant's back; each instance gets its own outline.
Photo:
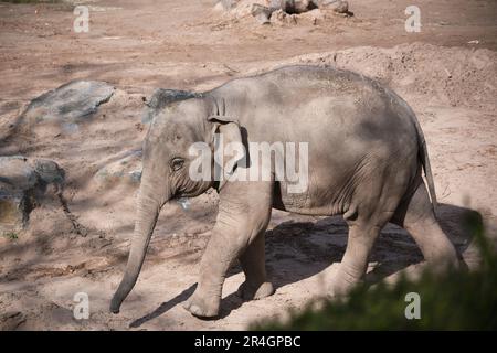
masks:
<path id="1" fill-rule="evenodd" d="M 413 43 L 391 49 L 352 47 L 306 54 L 273 65 L 260 73 L 292 64 L 330 65 L 361 73 L 390 86 L 410 103 L 425 105 L 495 108 L 497 53 L 486 49 L 441 47 Z"/>

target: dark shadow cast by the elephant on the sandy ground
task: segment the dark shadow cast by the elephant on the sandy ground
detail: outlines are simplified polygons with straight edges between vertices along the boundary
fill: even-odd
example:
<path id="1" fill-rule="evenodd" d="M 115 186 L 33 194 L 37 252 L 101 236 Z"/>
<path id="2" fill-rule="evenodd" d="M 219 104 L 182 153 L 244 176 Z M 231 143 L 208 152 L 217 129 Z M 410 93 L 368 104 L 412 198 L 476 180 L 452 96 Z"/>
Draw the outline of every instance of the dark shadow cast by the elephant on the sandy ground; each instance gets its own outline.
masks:
<path id="1" fill-rule="evenodd" d="M 472 235 L 465 231 L 462 221 L 475 212 L 469 208 L 440 204 L 437 208 L 438 222 L 455 245 L 459 256 L 466 252 L 472 243 Z M 348 226 L 341 216 L 325 217 L 318 221 L 309 217 L 309 222 L 283 222 L 266 232 L 266 266 L 276 291 L 313 277 L 334 263 L 341 261 L 347 246 Z M 373 269 L 366 275 L 366 282 L 374 285 L 404 268 L 422 263 L 423 255 L 411 235 L 403 228 L 388 224 L 381 232 L 370 257 Z M 240 265 L 233 266 L 228 277 L 241 272 Z M 187 300 L 197 288 L 190 286 L 169 301 L 161 303 L 151 313 L 134 321 L 130 327 L 137 328 L 142 323 L 166 313 L 172 307 Z M 236 292 L 223 298 L 220 315 L 228 317 L 231 311 L 244 304 L 244 300 Z"/>

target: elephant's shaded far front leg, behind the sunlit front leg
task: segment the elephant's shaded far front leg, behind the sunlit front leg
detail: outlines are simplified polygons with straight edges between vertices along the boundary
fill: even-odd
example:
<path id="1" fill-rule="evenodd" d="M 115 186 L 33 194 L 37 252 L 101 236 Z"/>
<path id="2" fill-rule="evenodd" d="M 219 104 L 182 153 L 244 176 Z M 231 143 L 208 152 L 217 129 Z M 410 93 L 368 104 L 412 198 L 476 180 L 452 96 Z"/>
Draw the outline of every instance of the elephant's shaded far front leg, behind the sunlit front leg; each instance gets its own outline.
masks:
<path id="1" fill-rule="evenodd" d="M 237 290 L 239 296 L 244 300 L 256 300 L 273 295 L 274 288 L 267 281 L 266 275 L 264 231 L 248 245 L 239 259 L 245 272 L 245 281 Z"/>

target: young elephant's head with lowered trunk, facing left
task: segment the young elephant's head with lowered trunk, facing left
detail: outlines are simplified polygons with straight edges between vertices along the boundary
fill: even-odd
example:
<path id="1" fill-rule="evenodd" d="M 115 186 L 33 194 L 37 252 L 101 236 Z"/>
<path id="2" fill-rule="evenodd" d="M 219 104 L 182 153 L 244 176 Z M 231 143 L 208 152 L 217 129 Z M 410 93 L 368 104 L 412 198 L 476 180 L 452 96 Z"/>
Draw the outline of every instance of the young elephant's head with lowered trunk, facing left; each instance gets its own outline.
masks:
<path id="1" fill-rule="evenodd" d="M 197 196 L 219 185 L 212 179 L 190 178 L 194 159 L 189 153 L 190 147 L 203 142 L 213 149 L 218 132 L 229 140 L 241 141 L 240 127 L 225 118 L 213 97 L 182 93 L 180 98 L 171 99 L 163 90 L 160 94 L 161 103 L 149 106 L 152 121 L 144 142 L 135 232 L 124 278 L 112 299 L 114 313 L 119 312 L 135 286 L 161 207 L 175 199 Z M 215 168 L 213 158 L 210 168 Z"/>

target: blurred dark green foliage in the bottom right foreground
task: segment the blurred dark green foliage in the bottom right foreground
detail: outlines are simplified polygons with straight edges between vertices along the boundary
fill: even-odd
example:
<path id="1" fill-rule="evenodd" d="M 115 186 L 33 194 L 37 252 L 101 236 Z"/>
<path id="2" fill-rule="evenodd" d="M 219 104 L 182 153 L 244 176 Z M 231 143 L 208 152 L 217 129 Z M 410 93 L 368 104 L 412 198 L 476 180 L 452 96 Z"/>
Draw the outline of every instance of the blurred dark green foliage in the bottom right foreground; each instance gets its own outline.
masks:
<path id="1" fill-rule="evenodd" d="M 472 271 L 433 275 L 416 281 L 401 277 L 392 286 L 357 287 L 347 300 L 315 303 L 293 313 L 287 323 L 260 323 L 255 330 L 497 330 L 497 256 L 484 235 L 482 217 L 473 212 L 463 224 L 472 232 L 482 264 Z M 421 319 L 408 320 L 405 295 L 421 297 Z"/>

